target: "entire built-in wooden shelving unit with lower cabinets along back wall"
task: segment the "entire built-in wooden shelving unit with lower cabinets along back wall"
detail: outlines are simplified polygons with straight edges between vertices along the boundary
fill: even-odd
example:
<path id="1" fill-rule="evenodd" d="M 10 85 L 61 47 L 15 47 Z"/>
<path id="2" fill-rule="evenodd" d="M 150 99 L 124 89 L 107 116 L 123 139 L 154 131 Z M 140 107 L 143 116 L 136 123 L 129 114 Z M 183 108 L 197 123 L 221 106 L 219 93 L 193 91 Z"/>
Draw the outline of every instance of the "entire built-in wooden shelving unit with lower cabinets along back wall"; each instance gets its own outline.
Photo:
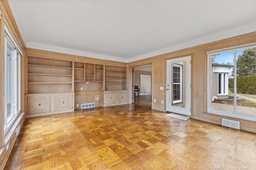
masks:
<path id="1" fill-rule="evenodd" d="M 29 52 L 26 60 L 27 117 L 73 111 L 86 103 L 95 102 L 95 106 L 127 103 L 124 64 L 110 66 L 98 60 L 95 63 L 88 60 L 92 62 L 89 63 L 82 58 L 64 59 L 58 53 Z"/>

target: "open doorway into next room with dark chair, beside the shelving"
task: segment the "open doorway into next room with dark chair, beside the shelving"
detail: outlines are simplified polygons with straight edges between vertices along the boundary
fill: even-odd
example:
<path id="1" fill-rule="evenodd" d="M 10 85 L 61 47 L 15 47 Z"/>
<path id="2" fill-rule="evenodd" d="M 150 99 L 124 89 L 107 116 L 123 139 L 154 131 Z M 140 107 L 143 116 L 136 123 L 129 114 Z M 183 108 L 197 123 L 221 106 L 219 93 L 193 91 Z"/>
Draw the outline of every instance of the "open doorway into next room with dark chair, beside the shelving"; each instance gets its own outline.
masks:
<path id="1" fill-rule="evenodd" d="M 133 84 L 133 103 L 151 107 L 152 64 L 134 67 Z"/>

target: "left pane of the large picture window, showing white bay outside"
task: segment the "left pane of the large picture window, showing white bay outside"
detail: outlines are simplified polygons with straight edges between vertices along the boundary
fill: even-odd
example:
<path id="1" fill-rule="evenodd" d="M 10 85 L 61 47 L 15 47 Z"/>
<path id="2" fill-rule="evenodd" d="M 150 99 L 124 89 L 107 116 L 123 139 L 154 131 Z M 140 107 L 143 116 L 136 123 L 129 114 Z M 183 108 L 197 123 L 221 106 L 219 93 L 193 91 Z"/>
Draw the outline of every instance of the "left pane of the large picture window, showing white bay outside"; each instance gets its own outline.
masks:
<path id="1" fill-rule="evenodd" d="M 211 55 L 211 109 L 234 113 L 233 67 L 234 52 Z"/>

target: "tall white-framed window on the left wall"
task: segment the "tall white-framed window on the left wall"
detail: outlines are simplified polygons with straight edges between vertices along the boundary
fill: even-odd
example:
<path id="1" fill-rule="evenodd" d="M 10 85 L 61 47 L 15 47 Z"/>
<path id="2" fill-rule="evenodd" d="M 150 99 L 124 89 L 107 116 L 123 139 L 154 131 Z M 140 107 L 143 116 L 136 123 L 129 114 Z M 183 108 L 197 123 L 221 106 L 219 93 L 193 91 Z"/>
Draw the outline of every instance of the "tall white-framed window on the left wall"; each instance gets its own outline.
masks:
<path id="1" fill-rule="evenodd" d="M 4 33 L 4 134 L 20 114 L 20 53 L 8 31 Z"/>

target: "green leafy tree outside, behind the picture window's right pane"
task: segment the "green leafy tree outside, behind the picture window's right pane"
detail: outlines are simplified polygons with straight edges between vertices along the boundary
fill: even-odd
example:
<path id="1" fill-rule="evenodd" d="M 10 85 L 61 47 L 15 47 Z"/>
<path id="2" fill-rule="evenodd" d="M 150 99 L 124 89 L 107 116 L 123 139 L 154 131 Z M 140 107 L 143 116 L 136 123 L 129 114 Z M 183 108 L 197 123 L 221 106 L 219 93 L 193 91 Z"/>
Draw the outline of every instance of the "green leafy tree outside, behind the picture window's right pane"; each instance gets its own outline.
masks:
<path id="1" fill-rule="evenodd" d="M 236 60 L 236 74 L 238 76 L 256 75 L 256 48 L 245 49 Z M 234 68 L 232 70 L 234 76 Z"/>

